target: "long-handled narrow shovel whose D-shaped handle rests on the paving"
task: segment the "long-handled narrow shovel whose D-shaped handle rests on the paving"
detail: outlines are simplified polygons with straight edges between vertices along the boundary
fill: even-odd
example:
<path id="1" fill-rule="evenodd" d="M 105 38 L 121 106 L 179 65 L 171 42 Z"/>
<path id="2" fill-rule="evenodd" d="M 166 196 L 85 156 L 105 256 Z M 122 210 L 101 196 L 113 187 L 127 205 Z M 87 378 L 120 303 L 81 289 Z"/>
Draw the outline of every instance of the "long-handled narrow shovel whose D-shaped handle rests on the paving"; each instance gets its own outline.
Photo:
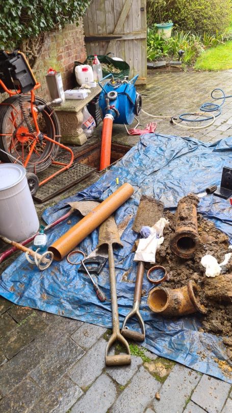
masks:
<path id="1" fill-rule="evenodd" d="M 113 334 L 111 335 L 106 347 L 106 365 L 107 366 L 123 366 L 131 363 L 130 347 L 121 335 L 119 329 L 118 318 L 118 303 L 117 303 L 117 289 L 115 278 L 115 266 L 114 266 L 114 253 L 113 245 L 122 247 L 122 243 L 118 234 L 118 228 L 115 223 L 114 217 L 111 215 L 99 229 L 99 243 L 98 247 L 102 245 L 108 245 L 109 254 L 109 270 L 110 270 L 110 288 L 111 288 L 111 307 L 112 307 L 112 324 Z M 109 355 L 109 350 L 113 343 L 120 342 L 125 347 L 127 354 Z"/>

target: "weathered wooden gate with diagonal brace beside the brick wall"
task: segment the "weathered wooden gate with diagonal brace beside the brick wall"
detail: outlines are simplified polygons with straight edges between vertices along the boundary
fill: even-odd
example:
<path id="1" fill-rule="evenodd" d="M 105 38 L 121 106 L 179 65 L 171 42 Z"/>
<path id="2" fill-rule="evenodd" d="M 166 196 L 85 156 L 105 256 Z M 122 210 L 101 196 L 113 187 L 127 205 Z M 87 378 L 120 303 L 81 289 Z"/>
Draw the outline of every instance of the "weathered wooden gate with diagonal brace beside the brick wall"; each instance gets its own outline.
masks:
<path id="1" fill-rule="evenodd" d="M 146 83 L 146 0 L 92 0 L 84 31 L 87 56 L 112 52 L 130 64 L 130 78 Z"/>

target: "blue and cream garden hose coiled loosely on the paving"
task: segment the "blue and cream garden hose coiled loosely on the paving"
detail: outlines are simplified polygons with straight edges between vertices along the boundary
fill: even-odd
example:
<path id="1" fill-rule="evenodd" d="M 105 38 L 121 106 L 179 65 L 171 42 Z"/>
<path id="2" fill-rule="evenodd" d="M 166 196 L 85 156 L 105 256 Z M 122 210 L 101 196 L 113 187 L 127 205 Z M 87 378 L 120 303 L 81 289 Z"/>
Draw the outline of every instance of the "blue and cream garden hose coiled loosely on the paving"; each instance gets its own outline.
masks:
<path id="1" fill-rule="evenodd" d="M 222 96 L 219 98 L 215 98 L 215 92 L 219 90 L 222 93 Z M 208 128 L 209 126 L 213 125 L 215 118 L 217 116 L 219 116 L 222 112 L 222 106 L 225 103 L 225 100 L 227 98 L 232 98 L 232 95 L 225 95 L 224 91 L 220 88 L 216 88 L 211 92 L 211 97 L 214 100 L 221 100 L 222 99 L 222 103 L 221 104 L 216 104 L 213 102 L 207 102 L 207 103 L 203 103 L 200 107 L 200 111 L 201 112 L 195 112 L 195 113 L 183 113 L 181 115 L 179 115 L 179 119 L 181 119 L 184 122 L 204 122 L 205 120 L 212 120 L 208 125 L 204 125 L 204 126 L 187 126 L 187 125 L 182 125 L 181 123 L 175 122 L 175 120 L 177 120 L 175 117 L 173 117 L 173 115 L 168 115 L 168 116 L 158 116 L 158 115 L 151 115 L 150 113 L 145 112 L 145 110 L 142 109 L 142 112 L 150 117 L 154 117 L 154 118 L 161 118 L 161 119 L 166 119 L 166 118 L 170 118 L 171 119 L 171 123 L 173 123 L 174 125 L 178 125 L 182 128 L 186 128 L 186 129 L 204 129 L 204 128 Z M 217 114 L 214 114 L 212 112 L 216 112 L 218 111 Z M 202 113 L 203 112 L 203 113 Z M 210 112 L 208 114 L 208 112 Z M 186 116 L 204 116 L 203 118 L 200 119 L 189 119 Z"/>

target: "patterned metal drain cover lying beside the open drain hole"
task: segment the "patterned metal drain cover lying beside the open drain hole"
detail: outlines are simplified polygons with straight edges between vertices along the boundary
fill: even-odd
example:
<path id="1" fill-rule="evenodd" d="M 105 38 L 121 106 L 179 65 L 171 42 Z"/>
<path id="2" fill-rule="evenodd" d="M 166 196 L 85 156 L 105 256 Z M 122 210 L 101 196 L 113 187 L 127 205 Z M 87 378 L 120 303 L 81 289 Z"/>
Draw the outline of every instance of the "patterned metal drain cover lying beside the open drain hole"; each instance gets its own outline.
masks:
<path id="1" fill-rule="evenodd" d="M 65 160 L 60 158 L 57 159 L 57 161 L 64 162 Z M 57 172 L 58 168 L 59 167 L 56 165 L 49 166 L 46 171 L 38 174 L 39 180 L 42 181 L 54 174 Z M 84 165 L 74 160 L 69 169 L 57 175 L 46 184 L 40 186 L 33 198 L 39 203 L 48 201 L 58 195 L 58 193 L 65 191 L 67 188 L 70 188 L 80 181 L 83 181 L 83 179 L 87 178 L 95 170 L 96 168 L 93 168 L 92 166 Z"/>

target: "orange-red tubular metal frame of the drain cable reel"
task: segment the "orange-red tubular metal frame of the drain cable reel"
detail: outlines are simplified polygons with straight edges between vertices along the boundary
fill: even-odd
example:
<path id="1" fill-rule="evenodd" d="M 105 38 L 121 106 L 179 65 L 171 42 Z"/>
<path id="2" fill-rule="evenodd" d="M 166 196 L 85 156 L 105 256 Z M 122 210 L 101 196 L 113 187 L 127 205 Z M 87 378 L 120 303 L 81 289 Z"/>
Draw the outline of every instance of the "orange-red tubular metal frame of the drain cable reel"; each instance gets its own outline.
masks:
<path id="1" fill-rule="evenodd" d="M 0 86 L 1 86 L 1 87 L 4 89 L 4 91 L 7 92 L 10 96 L 13 96 L 13 95 L 16 95 L 16 94 L 21 93 L 21 90 L 20 90 L 20 89 L 18 89 L 17 91 L 13 91 L 13 90 L 8 89 L 1 79 L 0 79 Z M 31 156 L 32 156 L 32 154 L 33 154 L 33 152 L 34 152 L 34 150 L 35 150 L 36 143 L 38 142 L 37 138 L 38 138 L 39 133 L 40 133 L 39 126 L 38 126 L 38 123 L 37 123 L 37 112 L 34 110 L 34 101 L 35 101 L 35 93 L 34 93 L 34 91 L 37 90 L 40 86 L 41 86 L 40 83 L 36 83 L 36 85 L 34 86 L 34 88 L 33 88 L 33 89 L 31 90 L 31 92 L 30 92 L 30 94 L 31 94 L 31 100 L 30 100 L 31 113 L 32 113 L 32 117 L 33 117 L 33 122 L 34 122 L 34 125 L 35 125 L 35 129 L 36 129 L 36 133 L 35 133 L 35 135 L 33 135 L 33 136 L 32 136 L 32 134 L 31 134 L 30 132 L 29 132 L 28 134 L 25 134 L 26 137 L 28 137 L 28 138 L 29 138 L 29 137 L 32 137 L 32 139 L 33 139 L 33 143 L 32 143 L 32 145 L 31 145 L 31 148 L 30 148 L 30 151 L 29 151 L 29 153 L 28 153 L 28 156 L 27 156 L 27 158 L 25 159 L 25 162 L 23 163 L 23 166 L 24 166 L 25 168 L 27 167 L 27 165 L 28 165 L 28 163 L 29 163 L 29 161 L 30 161 L 30 159 L 31 159 Z M 14 107 L 14 105 L 12 105 L 12 104 L 4 103 L 4 102 L 3 102 L 3 103 L 0 103 L 0 106 L 3 106 L 3 105 L 12 106 L 12 108 L 13 108 L 16 112 L 18 112 L 18 111 L 16 110 L 16 108 Z M 1 109 L 0 109 L 0 110 L 1 110 Z M 49 116 L 49 117 L 50 117 L 51 114 L 53 113 L 53 112 L 51 112 L 51 113 L 49 114 L 49 113 L 47 113 L 46 111 L 44 111 L 44 112 L 45 112 L 46 115 Z M 19 113 L 19 112 L 18 112 L 18 113 Z M 12 125 L 14 126 L 14 125 L 15 125 L 15 119 L 16 119 L 17 116 L 16 116 L 16 117 L 14 116 L 13 110 L 12 110 L 11 116 L 12 116 Z M 55 127 L 54 127 L 54 125 L 53 125 L 53 128 L 54 128 L 54 135 L 55 135 Z M 11 134 L 10 134 L 10 133 L 9 133 L 9 134 L 0 134 L 0 136 L 12 136 L 12 133 L 11 133 Z M 59 175 L 61 172 L 66 171 L 66 169 L 68 169 L 68 168 L 72 165 L 72 162 L 73 162 L 73 159 L 74 159 L 73 152 L 72 152 L 72 150 L 71 150 L 70 148 L 66 147 L 65 145 L 63 145 L 63 144 L 60 143 L 60 142 L 57 142 L 57 141 L 54 140 L 54 139 L 49 138 L 47 135 L 43 135 L 43 136 L 44 136 L 44 139 L 45 139 L 45 140 L 47 140 L 47 141 L 49 141 L 49 142 L 52 142 L 52 143 L 54 143 L 55 145 L 58 145 L 60 148 L 64 149 L 65 151 L 68 151 L 68 152 L 70 153 L 70 161 L 69 161 L 68 163 L 65 163 L 65 162 L 59 162 L 59 161 L 52 160 L 52 161 L 51 161 L 51 164 L 60 165 L 60 166 L 62 166 L 62 167 L 61 167 L 61 169 L 59 169 L 57 172 L 55 172 L 54 174 L 51 174 L 50 176 L 48 176 L 47 178 L 45 178 L 43 181 L 41 181 L 41 182 L 39 183 L 39 186 L 44 185 L 46 182 L 50 181 L 50 180 L 53 179 L 55 176 Z M 60 135 L 55 135 L 55 137 L 60 137 Z M 13 143 L 13 144 L 14 144 L 14 143 Z M 48 154 L 47 157 L 48 157 L 48 156 L 50 156 L 50 155 Z M 45 158 L 45 159 L 46 159 L 46 158 Z M 40 162 L 44 162 L 45 159 L 42 159 Z M 15 162 L 16 162 L 16 161 L 15 161 Z M 35 173 L 36 173 L 36 171 L 35 171 Z"/>

